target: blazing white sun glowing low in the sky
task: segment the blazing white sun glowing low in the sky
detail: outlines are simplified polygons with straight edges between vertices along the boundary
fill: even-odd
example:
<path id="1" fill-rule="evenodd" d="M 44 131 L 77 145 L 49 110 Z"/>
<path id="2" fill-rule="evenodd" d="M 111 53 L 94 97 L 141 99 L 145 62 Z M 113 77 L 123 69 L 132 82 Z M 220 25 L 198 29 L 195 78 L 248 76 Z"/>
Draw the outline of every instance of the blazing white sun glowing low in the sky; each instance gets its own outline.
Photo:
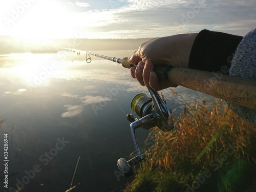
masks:
<path id="1" fill-rule="evenodd" d="M 61 38 L 66 29 L 67 10 L 53 1 L 34 2 L 14 23 L 15 36 L 29 39 Z"/>

